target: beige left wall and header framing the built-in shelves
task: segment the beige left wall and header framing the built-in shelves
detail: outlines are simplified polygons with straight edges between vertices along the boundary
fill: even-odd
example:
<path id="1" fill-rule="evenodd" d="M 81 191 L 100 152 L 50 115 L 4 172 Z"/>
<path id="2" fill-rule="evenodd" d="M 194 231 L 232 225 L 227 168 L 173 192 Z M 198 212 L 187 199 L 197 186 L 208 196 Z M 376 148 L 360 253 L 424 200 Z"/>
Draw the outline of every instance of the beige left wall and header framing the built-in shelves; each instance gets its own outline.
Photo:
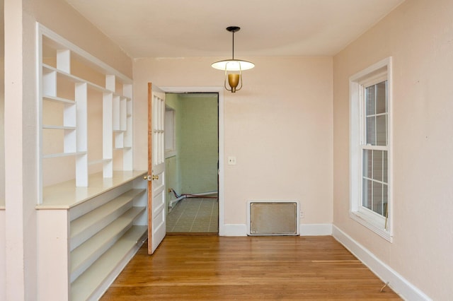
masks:
<path id="1" fill-rule="evenodd" d="M 64 1 L 4 3 L 6 235 L 1 245 L 6 245 L 5 294 L 6 300 L 34 300 L 38 290 L 35 21 L 128 76 L 132 61 Z"/>

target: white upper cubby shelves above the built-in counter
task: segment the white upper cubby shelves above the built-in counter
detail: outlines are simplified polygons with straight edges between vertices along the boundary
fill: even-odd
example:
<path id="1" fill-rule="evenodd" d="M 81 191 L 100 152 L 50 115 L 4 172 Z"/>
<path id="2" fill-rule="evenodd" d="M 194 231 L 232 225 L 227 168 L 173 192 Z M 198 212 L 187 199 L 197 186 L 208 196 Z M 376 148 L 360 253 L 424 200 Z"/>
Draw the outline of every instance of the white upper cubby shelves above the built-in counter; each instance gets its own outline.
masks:
<path id="1" fill-rule="evenodd" d="M 42 28 L 41 32 L 40 187 L 45 187 L 48 182 L 43 170 L 46 165 L 54 164 L 52 158 L 74 157 L 77 187 L 88 187 L 88 167 L 91 165 L 101 164 L 103 177 L 112 177 L 113 151 L 116 150 L 122 150 L 122 158 L 118 158 L 122 161 L 122 170 L 132 170 L 132 80 L 50 30 Z M 88 76 L 74 74 L 73 65 L 83 70 L 78 73 Z M 80 68 L 81 65 L 84 68 Z M 96 78 L 96 82 L 91 81 L 90 76 Z M 103 78 L 103 85 L 99 78 Z M 96 96 L 90 97 L 95 93 Z M 92 114 L 88 107 L 91 103 L 99 103 L 102 107 L 101 114 L 96 117 L 102 119 L 102 124 L 95 129 L 102 131 L 100 158 L 91 156 L 88 149 L 91 135 L 88 119 Z M 59 118 L 55 117 L 58 114 Z M 47 123 L 46 119 L 56 123 Z M 54 184 L 55 180 L 50 182 Z M 40 196 L 40 203 L 43 201 Z"/>

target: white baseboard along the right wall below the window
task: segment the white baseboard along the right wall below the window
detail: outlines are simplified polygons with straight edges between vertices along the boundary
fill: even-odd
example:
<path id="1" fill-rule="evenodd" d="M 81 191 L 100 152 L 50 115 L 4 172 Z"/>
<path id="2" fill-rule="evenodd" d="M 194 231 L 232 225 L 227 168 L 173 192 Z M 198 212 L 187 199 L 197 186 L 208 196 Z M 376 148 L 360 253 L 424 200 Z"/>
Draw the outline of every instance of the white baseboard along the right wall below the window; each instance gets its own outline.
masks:
<path id="1" fill-rule="evenodd" d="M 390 266 L 378 259 L 372 252 L 363 247 L 361 244 L 352 239 L 342 230 L 333 225 L 333 237 L 343 244 L 352 254 L 354 254 L 365 266 L 376 274 L 384 283 L 389 282 L 389 287 L 393 289 L 404 300 L 425 301 L 432 300 L 428 295 L 425 295 L 421 290 L 407 281 L 403 276 L 398 274 Z"/>

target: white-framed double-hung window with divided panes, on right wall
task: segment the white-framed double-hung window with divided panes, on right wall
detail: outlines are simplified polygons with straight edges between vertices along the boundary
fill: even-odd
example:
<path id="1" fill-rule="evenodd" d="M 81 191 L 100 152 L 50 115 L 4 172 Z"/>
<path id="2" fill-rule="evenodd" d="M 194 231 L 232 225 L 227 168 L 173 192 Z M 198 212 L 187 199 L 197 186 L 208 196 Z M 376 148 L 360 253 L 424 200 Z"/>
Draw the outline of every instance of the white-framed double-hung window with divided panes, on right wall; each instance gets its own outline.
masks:
<path id="1" fill-rule="evenodd" d="M 350 78 L 350 216 L 391 241 L 391 58 Z"/>

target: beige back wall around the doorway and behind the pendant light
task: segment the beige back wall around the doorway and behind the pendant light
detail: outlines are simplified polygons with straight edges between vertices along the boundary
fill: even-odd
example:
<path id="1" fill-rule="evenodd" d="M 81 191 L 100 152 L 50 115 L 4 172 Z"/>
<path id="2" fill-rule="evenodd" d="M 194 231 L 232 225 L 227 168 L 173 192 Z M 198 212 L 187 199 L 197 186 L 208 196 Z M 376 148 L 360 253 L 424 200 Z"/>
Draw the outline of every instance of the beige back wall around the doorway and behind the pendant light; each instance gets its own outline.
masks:
<path id="1" fill-rule="evenodd" d="M 222 86 L 218 58 L 134 61 L 135 169 L 147 166 L 147 82 Z M 243 89 L 224 93 L 224 223 L 246 224 L 246 201 L 296 199 L 302 223 L 332 222 L 332 59 L 253 57 Z"/>

